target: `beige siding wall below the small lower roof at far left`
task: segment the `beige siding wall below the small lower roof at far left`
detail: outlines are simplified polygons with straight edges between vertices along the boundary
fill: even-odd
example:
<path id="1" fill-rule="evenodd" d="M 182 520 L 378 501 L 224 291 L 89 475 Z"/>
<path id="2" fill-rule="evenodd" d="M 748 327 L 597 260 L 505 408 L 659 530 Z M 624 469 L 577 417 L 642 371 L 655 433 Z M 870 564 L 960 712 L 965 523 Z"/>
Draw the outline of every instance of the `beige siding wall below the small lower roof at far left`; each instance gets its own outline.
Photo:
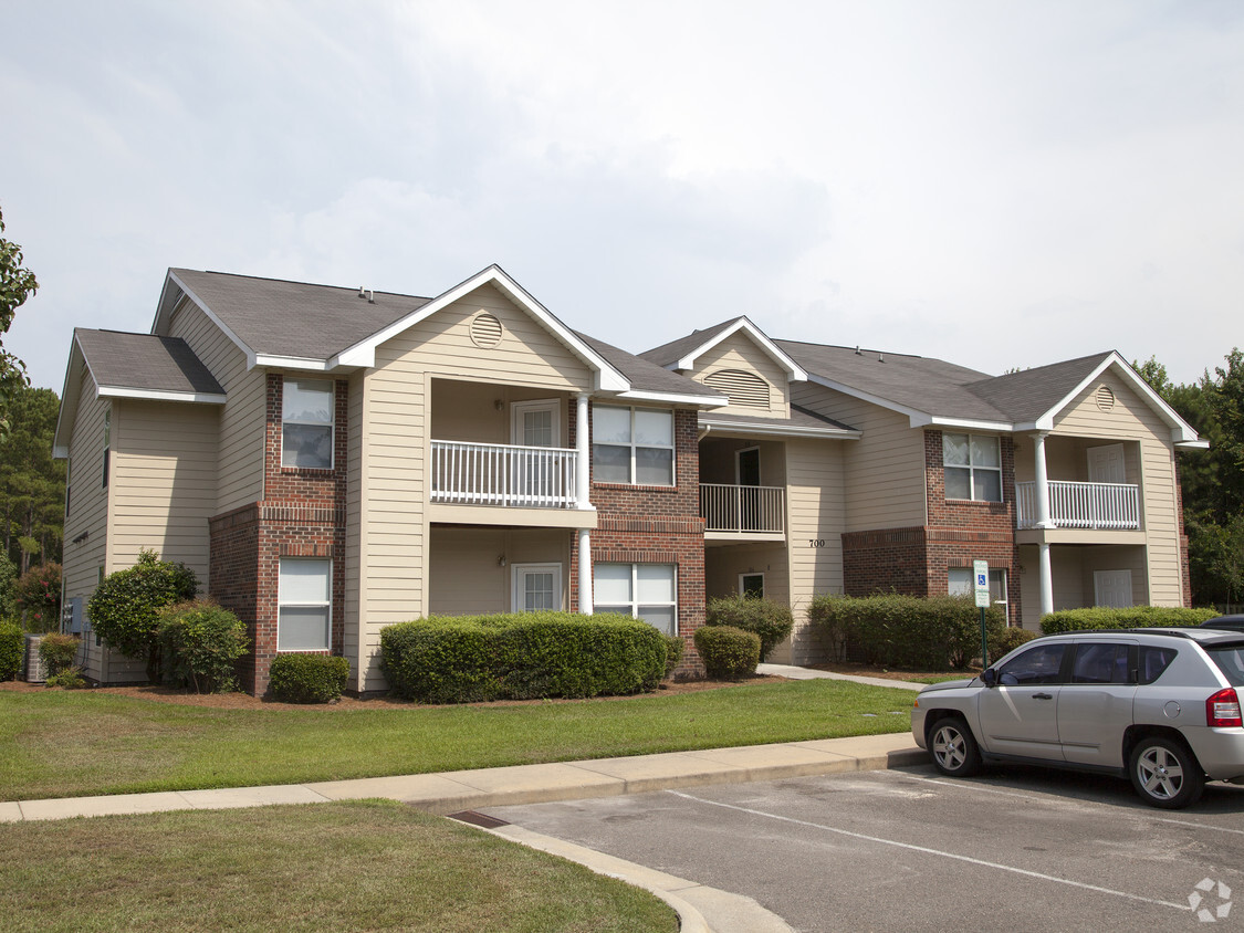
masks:
<path id="1" fill-rule="evenodd" d="M 143 549 L 185 564 L 208 583 L 208 519 L 215 514 L 219 406 L 113 403 L 112 534 L 108 566 Z"/>

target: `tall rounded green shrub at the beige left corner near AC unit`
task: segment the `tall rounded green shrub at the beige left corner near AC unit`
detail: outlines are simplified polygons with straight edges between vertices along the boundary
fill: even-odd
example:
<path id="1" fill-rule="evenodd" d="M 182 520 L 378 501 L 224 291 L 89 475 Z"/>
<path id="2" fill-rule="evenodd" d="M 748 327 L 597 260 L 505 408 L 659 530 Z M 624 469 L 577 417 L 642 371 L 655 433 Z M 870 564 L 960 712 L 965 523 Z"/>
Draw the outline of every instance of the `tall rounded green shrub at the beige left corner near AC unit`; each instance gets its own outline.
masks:
<path id="1" fill-rule="evenodd" d="M 157 680 L 160 610 L 193 600 L 198 590 L 194 571 L 184 564 L 169 564 L 154 551 L 141 551 L 134 566 L 103 578 L 87 612 L 104 644 L 132 658 L 144 658 L 147 679 Z"/>

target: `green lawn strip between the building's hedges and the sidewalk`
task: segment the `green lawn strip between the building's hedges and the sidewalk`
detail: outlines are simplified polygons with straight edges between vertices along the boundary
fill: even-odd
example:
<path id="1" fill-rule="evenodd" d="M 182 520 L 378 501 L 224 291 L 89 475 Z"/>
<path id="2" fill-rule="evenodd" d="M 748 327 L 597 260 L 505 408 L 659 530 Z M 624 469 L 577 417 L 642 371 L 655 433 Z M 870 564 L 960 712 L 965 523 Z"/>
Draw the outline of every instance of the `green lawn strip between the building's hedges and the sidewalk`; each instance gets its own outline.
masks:
<path id="1" fill-rule="evenodd" d="M 843 680 L 478 707 L 243 710 L 0 692 L 0 799 L 301 784 L 898 733 L 911 690 Z M 6 830 L 7 832 L 7 830 Z"/>

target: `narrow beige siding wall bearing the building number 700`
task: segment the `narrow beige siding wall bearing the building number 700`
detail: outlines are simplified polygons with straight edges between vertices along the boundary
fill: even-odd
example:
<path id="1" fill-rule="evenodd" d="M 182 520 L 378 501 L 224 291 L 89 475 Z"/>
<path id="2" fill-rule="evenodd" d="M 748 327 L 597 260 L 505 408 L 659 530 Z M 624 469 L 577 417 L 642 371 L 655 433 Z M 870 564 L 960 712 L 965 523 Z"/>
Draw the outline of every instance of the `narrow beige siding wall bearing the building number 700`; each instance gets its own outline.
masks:
<path id="1" fill-rule="evenodd" d="M 825 657 L 821 633 L 807 622 L 807 607 L 817 593 L 842 592 L 843 454 L 850 447 L 843 442 L 786 442 L 786 540 L 795 615 L 789 663 Z"/>

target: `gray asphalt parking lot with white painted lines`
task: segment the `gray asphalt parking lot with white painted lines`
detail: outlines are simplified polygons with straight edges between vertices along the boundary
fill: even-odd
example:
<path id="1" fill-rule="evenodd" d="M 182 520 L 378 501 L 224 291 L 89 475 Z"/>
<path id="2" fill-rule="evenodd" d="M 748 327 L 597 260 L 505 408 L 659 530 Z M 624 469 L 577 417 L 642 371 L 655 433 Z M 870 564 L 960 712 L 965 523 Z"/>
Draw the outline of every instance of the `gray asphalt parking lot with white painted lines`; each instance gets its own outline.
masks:
<path id="1" fill-rule="evenodd" d="M 1220 784 L 1162 811 L 1112 778 L 914 765 L 486 812 L 797 931 L 1244 929 L 1244 787 Z"/>

